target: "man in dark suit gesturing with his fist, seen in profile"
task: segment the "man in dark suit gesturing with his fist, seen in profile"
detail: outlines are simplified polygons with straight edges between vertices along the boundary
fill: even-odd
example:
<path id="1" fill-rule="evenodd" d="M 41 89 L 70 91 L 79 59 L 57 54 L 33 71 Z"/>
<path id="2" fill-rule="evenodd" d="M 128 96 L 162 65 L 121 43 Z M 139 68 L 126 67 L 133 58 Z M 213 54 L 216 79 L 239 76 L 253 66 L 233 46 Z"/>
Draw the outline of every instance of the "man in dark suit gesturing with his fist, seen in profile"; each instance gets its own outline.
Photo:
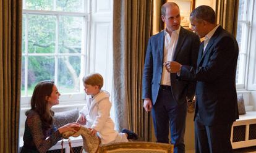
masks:
<path id="1" fill-rule="evenodd" d="M 202 153 L 229 153 L 231 127 L 239 118 L 236 94 L 238 45 L 233 35 L 216 24 L 215 12 L 199 6 L 190 22 L 200 38 L 197 67 L 168 62 L 166 69 L 179 80 L 197 81 L 195 149 Z"/>

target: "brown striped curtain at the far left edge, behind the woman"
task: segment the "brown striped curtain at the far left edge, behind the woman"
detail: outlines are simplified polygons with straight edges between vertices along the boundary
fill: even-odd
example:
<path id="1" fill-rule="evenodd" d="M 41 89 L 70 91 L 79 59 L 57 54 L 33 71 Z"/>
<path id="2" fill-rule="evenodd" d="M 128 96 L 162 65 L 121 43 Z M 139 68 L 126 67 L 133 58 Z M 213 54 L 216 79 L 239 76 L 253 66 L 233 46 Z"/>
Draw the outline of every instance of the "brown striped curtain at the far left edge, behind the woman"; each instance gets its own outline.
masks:
<path id="1" fill-rule="evenodd" d="M 22 0 L 0 0 L 0 152 L 19 146 Z"/>

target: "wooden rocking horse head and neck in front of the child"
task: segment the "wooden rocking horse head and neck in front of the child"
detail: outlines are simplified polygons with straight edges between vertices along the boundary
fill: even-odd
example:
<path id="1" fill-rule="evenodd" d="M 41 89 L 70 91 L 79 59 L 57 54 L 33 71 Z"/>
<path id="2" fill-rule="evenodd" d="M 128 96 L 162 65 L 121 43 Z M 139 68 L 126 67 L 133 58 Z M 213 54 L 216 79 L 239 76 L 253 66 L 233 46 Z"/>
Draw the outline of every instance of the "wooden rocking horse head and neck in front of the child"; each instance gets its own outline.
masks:
<path id="1" fill-rule="evenodd" d="M 83 138 L 83 152 L 88 153 L 96 153 L 98 152 L 99 145 L 101 144 L 101 140 L 98 136 L 92 135 L 91 131 L 84 126 L 80 126 L 79 129 L 75 129 L 74 131 L 66 131 L 62 133 L 62 138 L 68 139 L 70 136 L 78 137 L 82 136 Z"/>

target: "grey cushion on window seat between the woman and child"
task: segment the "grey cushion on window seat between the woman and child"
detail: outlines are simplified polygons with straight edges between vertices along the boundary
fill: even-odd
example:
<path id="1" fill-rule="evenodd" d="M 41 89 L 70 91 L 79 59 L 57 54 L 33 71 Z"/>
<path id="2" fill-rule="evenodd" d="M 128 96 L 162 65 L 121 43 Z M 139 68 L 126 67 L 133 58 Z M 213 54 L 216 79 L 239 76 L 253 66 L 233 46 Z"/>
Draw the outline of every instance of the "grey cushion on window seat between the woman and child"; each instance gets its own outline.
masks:
<path id="1" fill-rule="evenodd" d="M 56 112 L 54 114 L 53 125 L 56 126 L 56 128 L 59 128 L 67 123 L 76 122 L 77 118 L 79 118 L 79 109 Z"/>

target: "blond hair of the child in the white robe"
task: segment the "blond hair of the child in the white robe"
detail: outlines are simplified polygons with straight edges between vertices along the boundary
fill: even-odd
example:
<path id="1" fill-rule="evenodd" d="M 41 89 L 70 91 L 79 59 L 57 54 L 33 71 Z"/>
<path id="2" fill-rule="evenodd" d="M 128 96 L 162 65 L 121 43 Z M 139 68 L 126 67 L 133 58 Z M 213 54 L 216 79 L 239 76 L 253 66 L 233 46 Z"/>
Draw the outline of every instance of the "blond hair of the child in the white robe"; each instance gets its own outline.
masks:
<path id="1" fill-rule="evenodd" d="M 83 77 L 84 85 L 99 86 L 99 89 L 103 87 L 103 77 L 100 73 L 92 73 Z"/>

